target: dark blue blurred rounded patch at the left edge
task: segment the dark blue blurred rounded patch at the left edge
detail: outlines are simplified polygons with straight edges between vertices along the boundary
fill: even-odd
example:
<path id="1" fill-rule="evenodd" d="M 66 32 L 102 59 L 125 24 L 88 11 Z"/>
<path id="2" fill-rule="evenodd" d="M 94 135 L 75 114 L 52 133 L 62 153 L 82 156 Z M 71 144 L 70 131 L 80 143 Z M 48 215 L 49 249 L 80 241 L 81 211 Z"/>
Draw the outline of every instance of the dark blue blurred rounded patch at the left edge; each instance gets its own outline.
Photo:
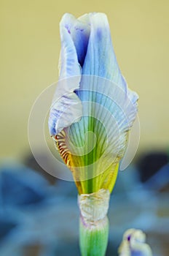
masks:
<path id="1" fill-rule="evenodd" d="M 2 167 L 0 170 L 1 206 L 28 206 L 41 203 L 47 181 L 23 166 Z"/>

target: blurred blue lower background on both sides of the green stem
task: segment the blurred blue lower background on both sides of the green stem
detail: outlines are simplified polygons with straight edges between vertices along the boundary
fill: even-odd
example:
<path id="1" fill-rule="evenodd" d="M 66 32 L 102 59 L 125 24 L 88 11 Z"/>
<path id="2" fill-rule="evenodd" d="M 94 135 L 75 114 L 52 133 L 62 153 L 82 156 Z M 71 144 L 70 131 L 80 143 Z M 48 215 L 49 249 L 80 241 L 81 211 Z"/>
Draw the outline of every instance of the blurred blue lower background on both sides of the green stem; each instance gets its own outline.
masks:
<path id="1" fill-rule="evenodd" d="M 168 192 L 156 190 L 167 182 L 168 165 L 144 184 L 133 165 L 119 173 L 109 208 L 109 242 L 114 248 L 130 227 L 168 236 L 169 217 L 157 214 L 163 208 L 168 210 Z M 1 167 L 0 255 L 25 256 L 25 247 L 36 244 L 41 248 L 39 256 L 79 255 L 78 217 L 73 182 L 57 180 L 50 185 L 23 165 Z M 72 254 L 64 244 L 74 249 Z M 113 247 L 109 248 L 112 252 Z"/>

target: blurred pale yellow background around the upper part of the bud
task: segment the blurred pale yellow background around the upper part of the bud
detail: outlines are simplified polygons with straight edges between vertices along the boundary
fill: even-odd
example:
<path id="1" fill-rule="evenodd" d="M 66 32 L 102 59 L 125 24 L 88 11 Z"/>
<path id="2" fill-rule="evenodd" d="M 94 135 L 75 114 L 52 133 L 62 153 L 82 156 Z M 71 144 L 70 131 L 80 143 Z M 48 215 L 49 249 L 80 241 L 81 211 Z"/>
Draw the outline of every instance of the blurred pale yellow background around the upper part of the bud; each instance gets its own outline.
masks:
<path id="1" fill-rule="evenodd" d="M 169 146 L 169 1 L 2 0 L 1 157 L 29 150 L 31 106 L 58 79 L 63 13 L 93 11 L 108 16 L 119 67 L 139 94 L 140 149 Z"/>

